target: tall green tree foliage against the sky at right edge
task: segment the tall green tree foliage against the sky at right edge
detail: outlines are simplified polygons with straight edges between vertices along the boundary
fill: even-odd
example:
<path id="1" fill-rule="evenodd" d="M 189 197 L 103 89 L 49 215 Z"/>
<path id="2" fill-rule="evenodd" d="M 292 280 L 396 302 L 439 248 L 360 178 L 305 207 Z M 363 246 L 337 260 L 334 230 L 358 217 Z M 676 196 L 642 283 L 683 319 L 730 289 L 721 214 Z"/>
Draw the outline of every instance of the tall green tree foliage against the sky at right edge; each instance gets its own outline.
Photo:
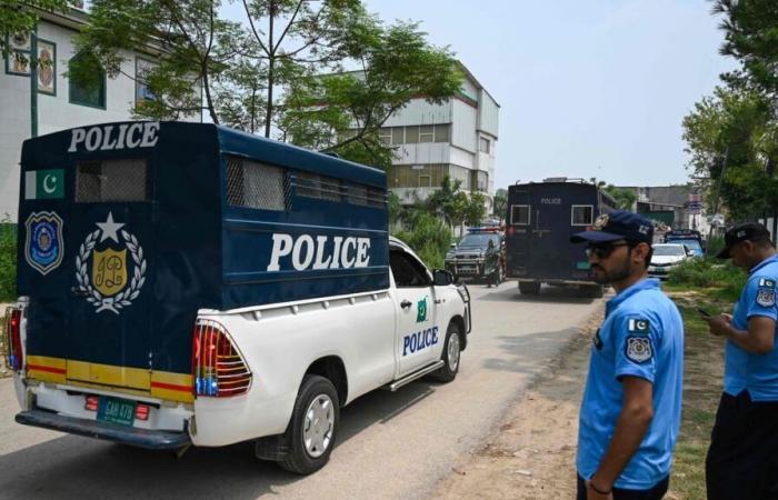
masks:
<path id="1" fill-rule="evenodd" d="M 722 54 L 740 69 L 704 97 L 684 119 L 688 169 L 735 220 L 775 213 L 778 207 L 778 3 L 715 0 L 725 32 Z"/>

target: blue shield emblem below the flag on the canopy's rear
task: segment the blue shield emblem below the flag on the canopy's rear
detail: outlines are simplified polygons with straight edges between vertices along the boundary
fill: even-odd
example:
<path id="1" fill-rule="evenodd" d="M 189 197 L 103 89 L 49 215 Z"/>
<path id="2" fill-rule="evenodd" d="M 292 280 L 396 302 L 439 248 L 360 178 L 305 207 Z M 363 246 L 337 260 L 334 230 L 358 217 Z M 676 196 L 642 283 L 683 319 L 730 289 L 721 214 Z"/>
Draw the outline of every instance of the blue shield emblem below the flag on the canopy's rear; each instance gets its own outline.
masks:
<path id="1" fill-rule="evenodd" d="M 57 212 L 32 212 L 24 227 L 24 259 L 46 276 L 62 263 L 62 219 Z"/>

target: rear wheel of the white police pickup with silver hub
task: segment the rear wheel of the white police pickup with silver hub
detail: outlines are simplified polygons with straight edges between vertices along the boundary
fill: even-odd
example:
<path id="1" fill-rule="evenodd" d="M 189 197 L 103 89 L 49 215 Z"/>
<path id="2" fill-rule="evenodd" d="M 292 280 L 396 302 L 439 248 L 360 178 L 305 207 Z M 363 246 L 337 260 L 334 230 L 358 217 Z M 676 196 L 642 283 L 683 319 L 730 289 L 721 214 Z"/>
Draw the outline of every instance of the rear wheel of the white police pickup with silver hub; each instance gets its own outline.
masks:
<path id="1" fill-rule="evenodd" d="M 321 469 L 329 461 L 339 424 L 340 403 L 332 382 L 323 377 L 306 376 L 285 436 L 289 454 L 279 464 L 297 474 Z"/>

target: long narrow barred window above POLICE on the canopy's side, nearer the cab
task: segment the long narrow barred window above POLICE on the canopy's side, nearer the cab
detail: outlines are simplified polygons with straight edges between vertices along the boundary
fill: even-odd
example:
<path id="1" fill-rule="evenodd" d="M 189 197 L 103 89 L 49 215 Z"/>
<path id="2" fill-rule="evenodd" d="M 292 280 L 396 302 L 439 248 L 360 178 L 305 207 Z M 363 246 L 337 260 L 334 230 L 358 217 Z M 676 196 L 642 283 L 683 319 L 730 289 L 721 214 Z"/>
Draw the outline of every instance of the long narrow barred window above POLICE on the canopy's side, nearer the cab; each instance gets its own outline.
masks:
<path id="1" fill-rule="evenodd" d="M 309 172 L 296 173 L 295 192 L 298 197 L 362 207 L 383 207 L 387 202 L 387 194 L 381 189 Z"/>

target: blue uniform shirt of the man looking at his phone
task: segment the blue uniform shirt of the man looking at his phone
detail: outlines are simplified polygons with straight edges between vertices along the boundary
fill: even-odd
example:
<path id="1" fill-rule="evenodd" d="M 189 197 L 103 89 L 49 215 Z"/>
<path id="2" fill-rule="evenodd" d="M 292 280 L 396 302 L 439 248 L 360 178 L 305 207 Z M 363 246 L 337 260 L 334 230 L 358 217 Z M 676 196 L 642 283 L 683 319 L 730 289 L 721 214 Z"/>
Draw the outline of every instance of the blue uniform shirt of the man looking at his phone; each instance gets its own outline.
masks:
<path id="1" fill-rule="evenodd" d="M 778 319 L 776 307 L 778 256 L 759 262 L 735 306 L 732 327 L 748 330 L 748 319 L 755 316 Z M 756 354 L 727 340 L 724 364 L 724 391 L 737 396 L 748 389 L 754 401 L 778 401 L 778 350 Z"/>

